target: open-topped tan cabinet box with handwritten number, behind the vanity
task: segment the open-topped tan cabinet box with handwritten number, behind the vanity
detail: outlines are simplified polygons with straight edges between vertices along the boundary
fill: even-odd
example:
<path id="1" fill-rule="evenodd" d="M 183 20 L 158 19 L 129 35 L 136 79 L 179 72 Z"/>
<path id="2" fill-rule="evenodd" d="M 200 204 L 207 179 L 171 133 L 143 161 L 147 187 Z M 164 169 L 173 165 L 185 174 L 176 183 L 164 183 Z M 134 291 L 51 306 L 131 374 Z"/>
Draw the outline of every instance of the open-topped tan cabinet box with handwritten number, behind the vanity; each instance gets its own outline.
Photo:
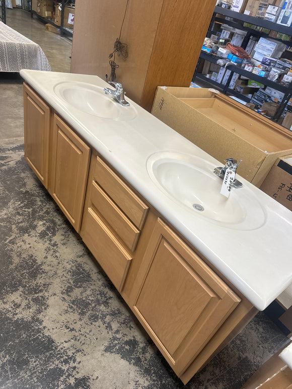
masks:
<path id="1" fill-rule="evenodd" d="M 277 158 L 292 154 L 289 131 L 213 91 L 158 87 L 152 114 L 223 166 L 242 159 L 238 174 L 259 187 Z"/>

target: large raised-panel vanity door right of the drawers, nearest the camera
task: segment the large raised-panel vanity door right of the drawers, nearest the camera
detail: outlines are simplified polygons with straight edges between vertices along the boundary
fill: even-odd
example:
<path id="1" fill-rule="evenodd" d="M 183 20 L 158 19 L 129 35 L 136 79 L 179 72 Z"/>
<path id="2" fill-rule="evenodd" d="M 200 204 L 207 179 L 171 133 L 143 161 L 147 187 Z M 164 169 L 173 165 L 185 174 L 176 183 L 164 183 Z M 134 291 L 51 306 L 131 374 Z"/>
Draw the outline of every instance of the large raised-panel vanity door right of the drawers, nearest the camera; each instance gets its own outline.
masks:
<path id="1" fill-rule="evenodd" d="M 130 298 L 133 312 L 178 376 L 240 302 L 161 219 Z"/>

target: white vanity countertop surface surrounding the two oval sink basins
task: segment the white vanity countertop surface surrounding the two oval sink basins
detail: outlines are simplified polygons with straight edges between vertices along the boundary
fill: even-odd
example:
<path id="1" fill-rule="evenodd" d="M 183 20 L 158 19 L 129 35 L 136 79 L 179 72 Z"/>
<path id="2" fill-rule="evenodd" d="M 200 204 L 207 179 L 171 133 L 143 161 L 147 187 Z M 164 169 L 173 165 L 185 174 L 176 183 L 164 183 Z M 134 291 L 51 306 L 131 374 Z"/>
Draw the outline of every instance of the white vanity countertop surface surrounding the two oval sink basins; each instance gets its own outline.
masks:
<path id="1" fill-rule="evenodd" d="M 147 160 L 153 153 L 166 150 L 197 155 L 214 167 L 222 163 L 127 98 L 138 115 L 118 121 L 72 109 L 54 93 L 54 86 L 66 81 L 109 87 L 95 75 L 34 70 L 21 70 L 20 74 L 256 308 L 265 309 L 292 282 L 292 212 L 237 175 L 264 204 L 265 223 L 257 229 L 238 230 L 197 217 L 154 184 L 147 172 Z"/>

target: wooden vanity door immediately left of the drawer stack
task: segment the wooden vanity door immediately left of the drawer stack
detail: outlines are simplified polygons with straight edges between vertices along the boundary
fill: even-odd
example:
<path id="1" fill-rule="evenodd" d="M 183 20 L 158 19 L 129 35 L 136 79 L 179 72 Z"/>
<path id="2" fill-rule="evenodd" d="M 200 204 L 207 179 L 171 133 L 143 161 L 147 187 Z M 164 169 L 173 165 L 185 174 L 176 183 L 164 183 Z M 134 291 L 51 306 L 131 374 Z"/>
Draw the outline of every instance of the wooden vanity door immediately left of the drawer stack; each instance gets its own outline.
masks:
<path id="1" fill-rule="evenodd" d="M 90 154 L 91 148 L 54 114 L 49 192 L 77 232 L 81 225 Z"/>

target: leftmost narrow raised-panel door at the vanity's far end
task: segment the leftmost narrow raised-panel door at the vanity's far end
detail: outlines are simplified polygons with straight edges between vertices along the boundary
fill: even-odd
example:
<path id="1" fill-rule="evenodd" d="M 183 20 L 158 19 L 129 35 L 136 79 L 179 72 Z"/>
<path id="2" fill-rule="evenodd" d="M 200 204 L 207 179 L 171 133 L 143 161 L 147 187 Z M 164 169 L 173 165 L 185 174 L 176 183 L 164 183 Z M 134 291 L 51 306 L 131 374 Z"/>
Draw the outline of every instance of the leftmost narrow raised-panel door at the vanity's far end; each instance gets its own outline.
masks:
<path id="1" fill-rule="evenodd" d="M 50 108 L 26 84 L 24 91 L 24 156 L 48 189 Z"/>

